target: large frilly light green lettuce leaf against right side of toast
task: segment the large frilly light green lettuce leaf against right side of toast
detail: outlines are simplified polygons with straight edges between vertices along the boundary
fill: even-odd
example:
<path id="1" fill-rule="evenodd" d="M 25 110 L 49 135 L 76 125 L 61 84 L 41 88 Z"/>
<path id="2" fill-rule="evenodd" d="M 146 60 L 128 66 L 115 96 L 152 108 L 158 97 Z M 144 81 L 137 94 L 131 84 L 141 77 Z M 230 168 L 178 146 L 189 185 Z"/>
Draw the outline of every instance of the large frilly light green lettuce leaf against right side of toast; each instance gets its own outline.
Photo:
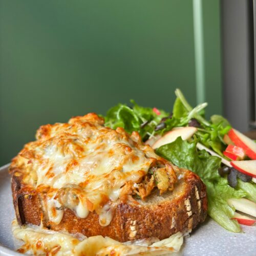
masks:
<path id="1" fill-rule="evenodd" d="M 247 194 L 242 189 L 230 187 L 227 179 L 218 175 L 221 159 L 209 155 L 205 150 L 197 151 L 196 144 L 197 141 L 189 143 L 179 137 L 176 141 L 157 148 L 156 153 L 199 175 L 207 188 L 209 216 L 227 230 L 240 232 L 238 222 L 230 219 L 234 209 L 227 204 L 227 199 L 242 198 Z"/>

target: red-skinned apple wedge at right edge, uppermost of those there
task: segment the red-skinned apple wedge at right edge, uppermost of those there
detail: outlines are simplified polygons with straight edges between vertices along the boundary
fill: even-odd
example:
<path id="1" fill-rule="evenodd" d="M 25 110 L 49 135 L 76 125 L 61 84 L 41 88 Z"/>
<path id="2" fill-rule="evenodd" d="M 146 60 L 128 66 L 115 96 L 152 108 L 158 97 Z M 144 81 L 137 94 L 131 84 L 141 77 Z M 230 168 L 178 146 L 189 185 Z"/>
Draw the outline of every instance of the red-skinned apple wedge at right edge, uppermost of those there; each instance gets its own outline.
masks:
<path id="1" fill-rule="evenodd" d="M 243 148 L 248 157 L 256 160 L 256 143 L 253 140 L 233 128 L 229 130 L 228 136 L 235 145 Z"/>

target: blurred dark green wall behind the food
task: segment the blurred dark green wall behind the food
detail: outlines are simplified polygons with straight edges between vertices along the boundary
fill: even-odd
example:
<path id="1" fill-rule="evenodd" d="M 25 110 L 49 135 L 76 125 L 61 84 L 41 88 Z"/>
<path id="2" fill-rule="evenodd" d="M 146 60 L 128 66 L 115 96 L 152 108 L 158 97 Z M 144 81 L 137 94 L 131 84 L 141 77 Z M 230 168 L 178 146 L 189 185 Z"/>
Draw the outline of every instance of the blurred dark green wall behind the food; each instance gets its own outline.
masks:
<path id="1" fill-rule="evenodd" d="M 204 2 L 208 113 L 221 113 L 219 1 Z M 118 102 L 196 104 L 193 1 L 0 1 L 0 165 L 39 125 Z"/>

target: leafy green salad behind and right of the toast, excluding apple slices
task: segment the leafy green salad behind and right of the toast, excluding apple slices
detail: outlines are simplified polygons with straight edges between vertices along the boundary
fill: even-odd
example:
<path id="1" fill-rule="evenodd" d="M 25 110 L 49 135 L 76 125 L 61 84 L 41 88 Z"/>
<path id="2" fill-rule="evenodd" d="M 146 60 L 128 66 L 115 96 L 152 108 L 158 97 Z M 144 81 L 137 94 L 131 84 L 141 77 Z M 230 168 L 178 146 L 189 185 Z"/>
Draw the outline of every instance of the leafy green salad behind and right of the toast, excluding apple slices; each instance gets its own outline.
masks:
<path id="1" fill-rule="evenodd" d="M 119 103 L 111 108 L 104 117 L 105 125 L 112 129 L 123 127 L 128 133 L 137 131 L 144 142 L 160 137 L 174 128 L 177 129 L 176 127 L 197 127 L 193 137 L 188 140 L 178 137 L 175 141 L 156 148 L 156 153 L 199 175 L 207 187 L 208 215 L 227 230 L 239 232 L 241 227 L 238 221 L 232 219 L 235 209 L 227 201 L 247 198 L 256 202 L 256 184 L 251 179 L 245 180 L 238 175 L 235 177 L 235 184 L 230 185 L 227 174 L 220 172 L 225 167 L 223 162 L 229 161 L 223 155 L 227 147 L 223 138 L 228 134 L 231 125 L 220 115 L 213 115 L 210 120 L 206 120 L 204 113 L 207 103 L 193 108 L 179 89 L 175 94 L 177 98 L 172 113 L 146 108 L 131 100 L 132 107 Z M 199 150 L 199 144 L 215 155 Z"/>

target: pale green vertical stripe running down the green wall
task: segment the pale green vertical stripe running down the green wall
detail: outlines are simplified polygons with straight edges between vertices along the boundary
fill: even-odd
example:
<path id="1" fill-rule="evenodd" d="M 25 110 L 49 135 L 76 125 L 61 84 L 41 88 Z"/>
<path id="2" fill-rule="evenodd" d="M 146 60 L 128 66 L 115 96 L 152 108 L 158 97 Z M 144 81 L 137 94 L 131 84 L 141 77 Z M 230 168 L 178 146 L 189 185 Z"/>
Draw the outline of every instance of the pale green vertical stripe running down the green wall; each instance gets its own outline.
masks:
<path id="1" fill-rule="evenodd" d="M 205 101 L 202 0 L 193 0 L 197 103 Z"/>

